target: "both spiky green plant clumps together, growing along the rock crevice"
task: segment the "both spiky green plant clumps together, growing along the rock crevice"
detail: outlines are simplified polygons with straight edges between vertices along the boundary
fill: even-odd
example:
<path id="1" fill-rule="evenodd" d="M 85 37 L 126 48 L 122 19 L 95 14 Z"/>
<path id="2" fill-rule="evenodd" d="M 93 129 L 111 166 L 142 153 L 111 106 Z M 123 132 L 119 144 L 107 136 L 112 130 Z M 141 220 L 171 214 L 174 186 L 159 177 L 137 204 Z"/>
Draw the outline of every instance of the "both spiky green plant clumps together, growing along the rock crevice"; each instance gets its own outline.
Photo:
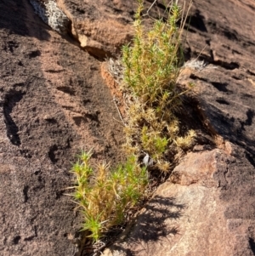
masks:
<path id="1" fill-rule="evenodd" d="M 169 148 L 189 147 L 195 136 L 192 130 L 181 136 L 175 117 L 182 103 L 181 95 L 185 93 L 176 85 L 183 62 L 181 9 L 173 3 L 167 22 L 155 20 L 154 26 L 145 31 L 141 16 L 143 1 L 138 3 L 133 44 L 122 48 L 120 67 L 122 90 L 129 96 L 124 128 L 129 157 L 114 169 L 105 162 L 92 168 L 91 151 L 82 151 L 72 168 L 76 177 L 73 196 L 84 216 L 82 230 L 87 230 L 88 237 L 95 242 L 112 226 L 121 224 L 127 210 L 147 196 L 147 168 L 138 163 L 141 152 L 150 156 L 161 171 L 168 171 L 170 162 L 166 152 Z M 179 20 L 180 27 L 177 26 Z"/>

